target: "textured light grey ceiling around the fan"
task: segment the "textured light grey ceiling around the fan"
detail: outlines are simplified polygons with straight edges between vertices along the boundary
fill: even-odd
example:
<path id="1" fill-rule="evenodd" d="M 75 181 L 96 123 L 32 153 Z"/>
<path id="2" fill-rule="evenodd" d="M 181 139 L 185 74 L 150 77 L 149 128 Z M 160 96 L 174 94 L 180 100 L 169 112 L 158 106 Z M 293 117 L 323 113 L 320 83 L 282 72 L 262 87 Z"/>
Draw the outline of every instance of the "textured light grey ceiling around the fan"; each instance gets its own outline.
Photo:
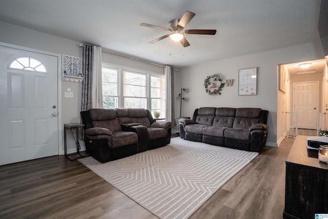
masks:
<path id="1" fill-rule="evenodd" d="M 183 48 L 164 30 L 186 10 L 196 13 Z M 319 40 L 320 0 L 0 0 L 0 21 L 101 46 L 174 67 L 274 50 Z M 1 34 L 1 32 L 0 32 Z"/>

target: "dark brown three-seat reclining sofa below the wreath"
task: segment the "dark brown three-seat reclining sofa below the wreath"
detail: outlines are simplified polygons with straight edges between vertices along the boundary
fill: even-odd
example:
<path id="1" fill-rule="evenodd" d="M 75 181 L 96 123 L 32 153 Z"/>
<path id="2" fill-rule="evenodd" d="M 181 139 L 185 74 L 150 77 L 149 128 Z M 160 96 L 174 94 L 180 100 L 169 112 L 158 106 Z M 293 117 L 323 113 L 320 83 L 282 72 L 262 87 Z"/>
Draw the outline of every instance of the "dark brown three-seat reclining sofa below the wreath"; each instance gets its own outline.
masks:
<path id="1" fill-rule="evenodd" d="M 268 111 L 260 108 L 202 107 L 193 119 L 181 118 L 181 138 L 259 152 L 267 142 Z"/>

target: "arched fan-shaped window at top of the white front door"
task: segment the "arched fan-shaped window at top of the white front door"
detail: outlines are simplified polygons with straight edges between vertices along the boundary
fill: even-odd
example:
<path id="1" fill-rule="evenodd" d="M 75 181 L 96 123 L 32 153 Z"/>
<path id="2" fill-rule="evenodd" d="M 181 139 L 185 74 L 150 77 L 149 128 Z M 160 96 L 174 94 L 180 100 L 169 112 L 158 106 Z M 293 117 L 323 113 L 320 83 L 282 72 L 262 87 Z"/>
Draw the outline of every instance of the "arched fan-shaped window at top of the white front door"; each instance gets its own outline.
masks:
<path id="1" fill-rule="evenodd" d="M 32 57 L 15 58 L 11 62 L 9 68 L 28 70 L 28 71 L 47 72 L 46 67 L 37 59 Z"/>

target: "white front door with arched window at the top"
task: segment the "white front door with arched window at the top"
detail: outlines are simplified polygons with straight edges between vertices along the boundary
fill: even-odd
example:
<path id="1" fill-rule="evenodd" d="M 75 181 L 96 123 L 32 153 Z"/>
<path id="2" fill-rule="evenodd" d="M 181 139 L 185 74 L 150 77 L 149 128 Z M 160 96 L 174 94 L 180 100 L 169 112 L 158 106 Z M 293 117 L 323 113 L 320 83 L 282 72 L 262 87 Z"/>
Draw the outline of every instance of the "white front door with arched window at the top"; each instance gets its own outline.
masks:
<path id="1" fill-rule="evenodd" d="M 58 154 L 57 65 L 0 45 L 0 165 Z"/>

